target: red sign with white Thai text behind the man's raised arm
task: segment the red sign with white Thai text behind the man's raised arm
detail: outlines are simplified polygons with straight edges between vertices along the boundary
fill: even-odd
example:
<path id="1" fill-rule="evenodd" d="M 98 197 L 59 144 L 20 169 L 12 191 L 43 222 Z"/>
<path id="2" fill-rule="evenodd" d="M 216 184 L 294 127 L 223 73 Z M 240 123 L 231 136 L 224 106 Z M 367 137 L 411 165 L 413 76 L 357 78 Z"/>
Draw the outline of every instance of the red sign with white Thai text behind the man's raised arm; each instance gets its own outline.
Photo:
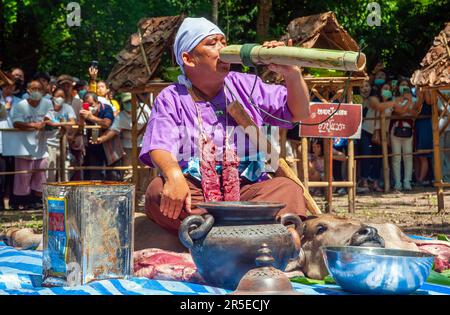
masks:
<path id="1" fill-rule="evenodd" d="M 320 123 L 334 113 L 338 105 L 336 103 L 311 103 L 311 115 L 301 123 Z M 359 139 L 361 137 L 361 121 L 361 104 L 341 104 L 339 110 L 320 125 L 300 124 L 299 135 L 311 138 Z"/>

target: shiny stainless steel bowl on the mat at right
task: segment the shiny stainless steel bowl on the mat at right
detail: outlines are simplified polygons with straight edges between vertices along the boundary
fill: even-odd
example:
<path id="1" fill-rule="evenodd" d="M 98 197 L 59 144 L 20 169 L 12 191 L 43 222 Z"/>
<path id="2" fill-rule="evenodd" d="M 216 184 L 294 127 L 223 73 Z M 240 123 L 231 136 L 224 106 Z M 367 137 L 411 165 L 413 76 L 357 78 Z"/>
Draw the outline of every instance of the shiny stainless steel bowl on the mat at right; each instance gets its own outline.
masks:
<path id="1" fill-rule="evenodd" d="M 434 256 L 399 249 L 322 247 L 328 271 L 344 289 L 358 294 L 410 294 L 428 278 Z"/>

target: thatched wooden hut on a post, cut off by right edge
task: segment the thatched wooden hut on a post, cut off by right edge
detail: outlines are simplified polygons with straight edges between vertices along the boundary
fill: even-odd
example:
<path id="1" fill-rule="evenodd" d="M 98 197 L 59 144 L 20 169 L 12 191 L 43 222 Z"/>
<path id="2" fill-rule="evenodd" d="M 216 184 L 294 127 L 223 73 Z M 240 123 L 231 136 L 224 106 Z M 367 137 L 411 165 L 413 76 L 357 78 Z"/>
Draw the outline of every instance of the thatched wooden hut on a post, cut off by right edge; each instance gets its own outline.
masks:
<path id="1" fill-rule="evenodd" d="M 441 148 L 439 146 L 439 119 L 445 115 L 450 116 L 450 108 L 442 90 L 450 90 L 450 22 L 434 38 L 433 45 L 427 52 L 421 68 L 416 70 L 412 77 L 412 84 L 431 91 L 432 95 L 432 126 L 433 126 L 433 157 L 434 157 L 434 186 L 437 191 L 438 210 L 444 210 L 444 187 L 450 183 L 442 180 Z M 444 104 L 441 113 L 438 111 L 438 100 Z M 447 150 L 446 150 L 447 152 Z"/>

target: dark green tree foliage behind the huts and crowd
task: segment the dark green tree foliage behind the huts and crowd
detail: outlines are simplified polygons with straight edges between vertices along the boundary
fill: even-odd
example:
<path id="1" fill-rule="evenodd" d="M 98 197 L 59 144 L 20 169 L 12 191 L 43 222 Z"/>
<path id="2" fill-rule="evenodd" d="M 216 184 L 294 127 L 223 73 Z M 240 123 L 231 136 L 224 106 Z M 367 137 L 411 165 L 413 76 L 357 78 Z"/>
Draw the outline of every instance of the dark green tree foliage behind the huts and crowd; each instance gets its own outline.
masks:
<path id="1" fill-rule="evenodd" d="M 0 61 L 3 68 L 22 66 L 28 74 L 46 70 L 86 78 L 91 60 L 105 78 L 137 23 L 143 17 L 176 15 L 211 17 L 209 0 L 78 0 L 81 26 L 69 27 L 67 4 L 57 0 L 2 0 Z M 394 73 L 409 75 L 443 28 L 450 0 L 377 0 L 381 25 L 369 26 L 362 0 L 272 0 L 269 35 L 279 38 L 290 20 L 334 11 L 355 38 L 367 44 L 369 66 L 383 59 Z M 219 25 L 229 42 L 256 41 L 258 1 L 220 0 Z M 169 58 L 169 54 L 167 54 Z M 164 64 L 169 61 L 166 60 Z"/>

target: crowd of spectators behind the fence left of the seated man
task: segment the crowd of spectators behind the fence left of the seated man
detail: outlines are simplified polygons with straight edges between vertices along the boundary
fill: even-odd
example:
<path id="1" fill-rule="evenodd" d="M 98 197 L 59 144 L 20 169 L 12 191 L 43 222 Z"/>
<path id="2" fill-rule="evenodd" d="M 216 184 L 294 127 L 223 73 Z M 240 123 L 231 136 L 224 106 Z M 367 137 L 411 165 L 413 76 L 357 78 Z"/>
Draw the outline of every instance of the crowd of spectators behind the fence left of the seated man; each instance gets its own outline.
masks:
<path id="1" fill-rule="evenodd" d="M 42 208 L 45 182 L 131 180 L 129 171 L 100 169 L 131 165 L 131 94 L 113 95 L 97 74 L 90 67 L 87 82 L 45 72 L 26 78 L 21 68 L 6 73 L 14 84 L 0 88 L 0 172 L 16 174 L 0 176 L 0 210 L 6 200 L 10 209 Z M 146 107 L 140 127 L 149 114 Z M 67 150 L 62 162 L 61 145 Z M 98 168 L 73 170 L 66 178 L 60 163 Z M 42 169 L 48 170 L 35 171 Z"/>

